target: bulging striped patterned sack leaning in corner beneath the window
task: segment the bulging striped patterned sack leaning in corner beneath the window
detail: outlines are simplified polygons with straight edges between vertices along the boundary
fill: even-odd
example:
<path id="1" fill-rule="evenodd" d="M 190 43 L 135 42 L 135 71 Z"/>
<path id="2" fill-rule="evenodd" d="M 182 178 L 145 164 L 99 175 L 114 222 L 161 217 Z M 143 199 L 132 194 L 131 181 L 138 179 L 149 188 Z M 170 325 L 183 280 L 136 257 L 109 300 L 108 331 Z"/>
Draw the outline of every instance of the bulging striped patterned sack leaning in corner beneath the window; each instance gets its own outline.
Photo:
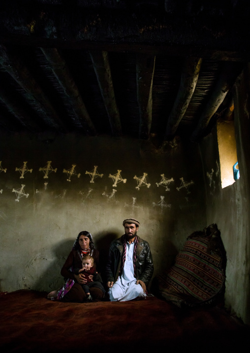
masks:
<path id="1" fill-rule="evenodd" d="M 175 264 L 157 276 L 158 291 L 179 307 L 223 298 L 226 254 L 216 224 L 188 237 Z"/>

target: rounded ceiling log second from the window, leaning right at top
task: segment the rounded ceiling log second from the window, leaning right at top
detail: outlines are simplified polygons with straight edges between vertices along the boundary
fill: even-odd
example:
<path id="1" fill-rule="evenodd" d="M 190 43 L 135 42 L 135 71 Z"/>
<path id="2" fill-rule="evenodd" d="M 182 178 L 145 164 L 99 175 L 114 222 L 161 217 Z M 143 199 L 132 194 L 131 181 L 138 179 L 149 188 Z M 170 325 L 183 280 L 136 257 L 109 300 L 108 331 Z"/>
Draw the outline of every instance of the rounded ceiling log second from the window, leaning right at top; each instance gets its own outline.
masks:
<path id="1" fill-rule="evenodd" d="M 198 80 L 201 63 L 202 59 L 193 57 L 187 58 L 184 62 L 179 91 L 167 120 L 165 140 L 173 138 L 179 123 L 186 113 Z"/>

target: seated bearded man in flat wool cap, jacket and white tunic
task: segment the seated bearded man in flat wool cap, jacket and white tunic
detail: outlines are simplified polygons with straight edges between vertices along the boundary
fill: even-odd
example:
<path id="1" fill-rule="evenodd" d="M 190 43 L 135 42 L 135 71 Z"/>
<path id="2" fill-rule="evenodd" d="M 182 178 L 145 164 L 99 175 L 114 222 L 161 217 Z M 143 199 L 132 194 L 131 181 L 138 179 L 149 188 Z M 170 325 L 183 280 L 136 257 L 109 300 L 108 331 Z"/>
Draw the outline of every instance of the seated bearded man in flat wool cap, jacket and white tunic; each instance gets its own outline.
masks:
<path id="1" fill-rule="evenodd" d="M 139 225 L 136 219 L 125 219 L 125 234 L 110 245 L 106 275 L 111 301 L 146 297 L 154 264 L 149 243 L 137 235 Z"/>

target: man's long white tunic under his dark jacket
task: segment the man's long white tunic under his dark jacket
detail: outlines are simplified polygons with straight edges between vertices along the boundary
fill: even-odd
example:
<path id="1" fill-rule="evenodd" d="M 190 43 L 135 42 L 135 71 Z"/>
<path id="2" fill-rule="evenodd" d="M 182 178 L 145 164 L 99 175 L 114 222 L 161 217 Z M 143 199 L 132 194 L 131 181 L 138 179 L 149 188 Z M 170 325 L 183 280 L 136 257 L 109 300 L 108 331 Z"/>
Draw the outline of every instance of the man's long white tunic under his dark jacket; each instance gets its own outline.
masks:
<path id="1" fill-rule="evenodd" d="M 118 277 L 108 294 L 111 301 L 128 301 L 139 297 L 146 298 L 142 286 L 136 284 L 133 265 L 134 242 L 126 242 L 126 259 L 122 275 Z"/>

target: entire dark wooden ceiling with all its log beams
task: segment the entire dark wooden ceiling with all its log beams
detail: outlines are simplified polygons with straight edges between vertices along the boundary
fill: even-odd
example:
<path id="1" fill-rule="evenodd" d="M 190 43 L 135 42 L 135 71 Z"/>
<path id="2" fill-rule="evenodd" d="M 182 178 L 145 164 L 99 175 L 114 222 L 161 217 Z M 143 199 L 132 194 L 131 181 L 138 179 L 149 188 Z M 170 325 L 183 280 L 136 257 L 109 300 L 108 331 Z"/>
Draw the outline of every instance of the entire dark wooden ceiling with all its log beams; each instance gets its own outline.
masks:
<path id="1" fill-rule="evenodd" d="M 192 141 L 233 118 L 248 1 L 2 0 L 0 130 Z"/>

